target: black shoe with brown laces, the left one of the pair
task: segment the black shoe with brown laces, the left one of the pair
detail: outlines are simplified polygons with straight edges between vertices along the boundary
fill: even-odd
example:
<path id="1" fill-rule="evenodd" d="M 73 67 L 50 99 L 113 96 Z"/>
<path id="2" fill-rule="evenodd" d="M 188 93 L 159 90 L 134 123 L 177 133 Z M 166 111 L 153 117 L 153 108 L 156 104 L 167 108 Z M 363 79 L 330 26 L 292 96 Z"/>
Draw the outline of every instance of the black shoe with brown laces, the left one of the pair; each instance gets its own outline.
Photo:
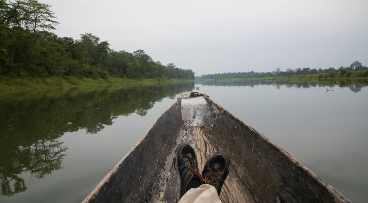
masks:
<path id="1" fill-rule="evenodd" d="M 177 201 L 179 201 L 190 188 L 197 188 L 202 182 L 194 149 L 187 144 L 181 144 L 175 152 L 175 170 L 180 179 L 180 191 L 177 194 Z"/>

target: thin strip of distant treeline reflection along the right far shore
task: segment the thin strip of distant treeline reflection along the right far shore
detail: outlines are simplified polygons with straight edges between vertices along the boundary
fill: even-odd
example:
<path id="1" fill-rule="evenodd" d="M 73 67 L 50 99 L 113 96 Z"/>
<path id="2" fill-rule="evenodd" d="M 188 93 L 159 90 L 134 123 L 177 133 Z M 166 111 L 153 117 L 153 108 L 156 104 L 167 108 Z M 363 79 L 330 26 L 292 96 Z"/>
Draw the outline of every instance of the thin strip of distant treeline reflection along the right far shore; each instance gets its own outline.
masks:
<path id="1" fill-rule="evenodd" d="M 238 80 L 238 81 L 196 81 L 196 84 L 205 86 L 250 86 L 260 85 L 274 86 L 277 89 L 286 88 L 310 88 L 310 87 L 349 87 L 354 93 L 361 91 L 361 88 L 368 85 L 368 80 L 338 80 L 321 82 L 289 82 L 289 81 L 265 81 L 265 80 Z"/>

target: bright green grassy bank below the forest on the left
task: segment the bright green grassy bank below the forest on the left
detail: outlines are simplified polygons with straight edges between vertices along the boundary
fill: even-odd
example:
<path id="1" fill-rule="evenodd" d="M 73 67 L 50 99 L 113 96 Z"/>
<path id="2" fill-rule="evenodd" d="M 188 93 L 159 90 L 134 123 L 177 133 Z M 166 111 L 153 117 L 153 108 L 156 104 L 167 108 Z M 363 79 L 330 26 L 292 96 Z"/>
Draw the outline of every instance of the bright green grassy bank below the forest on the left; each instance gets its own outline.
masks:
<path id="1" fill-rule="evenodd" d="M 47 78 L 10 78 L 0 77 L 0 92 L 21 91 L 29 89 L 72 88 L 77 86 L 124 85 L 136 86 L 161 82 L 183 81 L 179 79 L 107 79 L 85 77 L 47 77 Z"/>

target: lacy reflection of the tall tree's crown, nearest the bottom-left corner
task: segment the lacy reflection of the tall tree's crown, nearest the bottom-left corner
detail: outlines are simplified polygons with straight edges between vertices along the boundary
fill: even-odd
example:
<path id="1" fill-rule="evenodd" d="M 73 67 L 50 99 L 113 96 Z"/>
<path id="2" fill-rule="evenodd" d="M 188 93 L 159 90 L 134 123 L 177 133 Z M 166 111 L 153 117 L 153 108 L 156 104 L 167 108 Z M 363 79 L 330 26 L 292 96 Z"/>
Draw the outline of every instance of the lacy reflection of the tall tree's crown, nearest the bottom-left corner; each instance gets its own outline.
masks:
<path id="1" fill-rule="evenodd" d="M 18 174 L 29 172 L 32 177 L 40 179 L 55 170 L 62 169 L 61 162 L 68 149 L 62 144 L 57 139 L 42 139 L 28 143 L 28 145 L 18 146 L 11 152 L 6 152 L 5 156 L 2 154 L 4 157 L 0 162 L 2 165 L 0 167 L 1 193 L 11 196 L 27 189 L 24 179 L 18 177 Z M 9 150 L 9 147 L 3 149 Z"/>

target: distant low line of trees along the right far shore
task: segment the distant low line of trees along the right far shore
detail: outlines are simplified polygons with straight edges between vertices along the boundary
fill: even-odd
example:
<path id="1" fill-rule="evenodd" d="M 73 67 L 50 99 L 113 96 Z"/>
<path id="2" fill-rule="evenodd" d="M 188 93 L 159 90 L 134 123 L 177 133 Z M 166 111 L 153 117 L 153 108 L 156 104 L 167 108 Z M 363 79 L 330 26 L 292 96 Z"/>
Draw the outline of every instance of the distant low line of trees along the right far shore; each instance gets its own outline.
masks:
<path id="1" fill-rule="evenodd" d="M 348 67 L 341 66 L 339 69 L 334 69 L 330 67 L 329 69 L 310 69 L 309 67 L 304 67 L 303 69 L 286 69 L 286 71 L 281 71 L 280 68 L 277 68 L 276 71 L 273 72 L 238 72 L 238 73 L 220 73 L 220 74 L 208 74 L 202 75 L 199 77 L 195 77 L 196 79 L 216 79 L 216 78 L 264 78 L 264 77 L 282 77 L 282 76 L 295 76 L 295 75 L 308 75 L 308 74 L 326 74 L 332 72 L 341 72 L 342 75 L 347 75 L 349 77 L 349 73 L 351 71 L 364 71 L 368 70 L 368 67 L 363 66 L 361 62 L 355 61 Z M 368 73 L 368 72 L 365 72 Z M 364 74 L 365 74 L 364 73 Z M 350 74 L 351 75 L 351 74 Z M 365 74 L 364 77 L 368 77 L 368 74 Z"/>

